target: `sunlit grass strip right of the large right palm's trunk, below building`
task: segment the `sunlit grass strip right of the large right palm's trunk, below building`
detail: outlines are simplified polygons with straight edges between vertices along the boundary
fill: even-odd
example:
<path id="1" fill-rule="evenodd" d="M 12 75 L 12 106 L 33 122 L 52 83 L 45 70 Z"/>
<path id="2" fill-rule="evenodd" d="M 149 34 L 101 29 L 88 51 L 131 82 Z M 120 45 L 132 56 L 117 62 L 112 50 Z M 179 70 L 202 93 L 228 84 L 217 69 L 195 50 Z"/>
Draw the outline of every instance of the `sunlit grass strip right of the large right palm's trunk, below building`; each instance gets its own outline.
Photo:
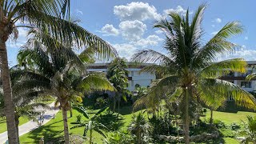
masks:
<path id="1" fill-rule="evenodd" d="M 246 112 L 246 111 L 238 111 L 237 113 L 226 113 L 220 111 L 214 111 L 213 118 L 221 120 L 226 124 L 230 124 L 232 122 L 241 123 L 242 121 L 247 120 L 247 115 L 256 116 L 254 112 Z M 210 110 L 207 110 L 206 118 L 210 118 Z"/>

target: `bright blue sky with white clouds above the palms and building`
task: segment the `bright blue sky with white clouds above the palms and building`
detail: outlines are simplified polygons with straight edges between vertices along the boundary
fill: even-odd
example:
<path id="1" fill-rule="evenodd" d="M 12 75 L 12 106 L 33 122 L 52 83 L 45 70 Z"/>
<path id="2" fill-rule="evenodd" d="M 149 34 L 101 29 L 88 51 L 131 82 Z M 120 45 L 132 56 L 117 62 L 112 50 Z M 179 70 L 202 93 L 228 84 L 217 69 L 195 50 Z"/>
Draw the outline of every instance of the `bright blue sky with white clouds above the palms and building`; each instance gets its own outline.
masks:
<path id="1" fill-rule="evenodd" d="M 206 2 L 203 18 L 205 34 L 202 41 L 207 42 L 210 37 L 225 26 L 227 22 L 241 22 L 245 28 L 243 34 L 230 39 L 231 42 L 242 46 L 242 49 L 218 58 L 245 58 L 256 60 L 256 14 L 254 0 L 73 0 L 71 2 L 71 15 L 74 19 L 80 19 L 80 26 L 98 35 L 118 50 L 121 57 L 129 59 L 136 50 L 154 49 L 162 50 L 164 35 L 153 29 L 153 24 L 168 10 L 178 10 L 181 14 L 187 8 L 190 15 L 200 4 Z M 8 56 L 10 66 L 14 66 L 18 49 L 26 42 L 26 30 L 19 31 L 16 43 L 9 42 Z"/>

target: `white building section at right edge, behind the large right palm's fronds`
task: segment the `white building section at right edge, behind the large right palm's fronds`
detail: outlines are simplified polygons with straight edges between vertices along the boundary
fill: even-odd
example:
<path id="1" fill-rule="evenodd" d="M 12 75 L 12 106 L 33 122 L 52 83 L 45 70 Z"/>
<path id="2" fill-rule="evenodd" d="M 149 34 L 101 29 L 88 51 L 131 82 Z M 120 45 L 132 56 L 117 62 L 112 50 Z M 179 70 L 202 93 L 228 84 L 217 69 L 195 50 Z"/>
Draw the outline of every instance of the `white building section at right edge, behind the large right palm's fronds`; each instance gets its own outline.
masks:
<path id="1" fill-rule="evenodd" d="M 256 73 L 256 61 L 247 61 L 247 64 L 248 66 L 246 68 L 246 74 L 230 72 L 230 74 L 227 74 L 225 77 L 222 77 L 222 79 L 228 82 L 232 82 L 246 91 L 252 92 L 256 90 L 256 79 L 252 79 L 250 81 L 246 80 L 246 76 L 248 74 Z"/>

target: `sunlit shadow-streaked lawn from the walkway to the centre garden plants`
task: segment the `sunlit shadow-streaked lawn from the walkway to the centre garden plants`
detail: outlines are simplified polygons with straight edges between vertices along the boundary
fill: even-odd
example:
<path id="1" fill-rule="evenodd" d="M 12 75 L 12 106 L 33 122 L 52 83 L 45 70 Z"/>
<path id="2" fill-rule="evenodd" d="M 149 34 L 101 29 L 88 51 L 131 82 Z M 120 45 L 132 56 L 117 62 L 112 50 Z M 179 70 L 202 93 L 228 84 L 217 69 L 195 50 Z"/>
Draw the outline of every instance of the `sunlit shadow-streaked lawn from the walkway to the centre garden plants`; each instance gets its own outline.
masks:
<path id="1" fill-rule="evenodd" d="M 132 107 L 131 106 L 126 106 L 122 107 L 120 110 L 120 115 L 122 115 L 122 120 L 118 120 L 119 122 L 122 122 L 122 128 L 126 128 L 126 126 L 129 125 L 130 121 L 132 120 L 132 115 L 131 114 Z M 97 110 L 88 110 L 90 113 L 95 113 Z M 136 112 L 135 114 L 138 114 Z M 79 113 L 77 110 L 73 110 L 73 117 L 68 118 L 68 123 L 69 126 L 75 126 L 73 124 L 70 124 L 70 122 L 75 122 L 76 121 L 76 116 L 78 116 Z M 68 116 L 70 114 L 68 113 Z M 83 118 L 83 120 L 86 120 L 86 118 Z M 84 128 L 77 128 L 77 129 L 72 129 L 70 130 L 70 134 L 78 134 L 81 135 L 83 134 Z M 110 132 L 106 131 L 106 135 L 109 134 Z M 22 143 L 38 143 L 39 139 L 44 137 L 45 142 L 53 142 L 54 140 L 58 141 L 58 137 L 63 137 L 63 122 L 62 122 L 62 111 L 59 111 L 58 114 L 56 114 L 56 118 L 50 120 L 50 122 L 47 122 L 46 125 L 41 126 L 40 128 L 31 131 L 30 133 L 22 135 L 20 137 L 20 141 Z M 95 143 L 102 143 L 102 135 L 98 134 L 97 132 L 94 131 L 93 133 L 94 137 L 94 142 Z M 55 139 L 54 139 L 55 138 Z M 53 140 L 54 139 L 54 140 Z"/>

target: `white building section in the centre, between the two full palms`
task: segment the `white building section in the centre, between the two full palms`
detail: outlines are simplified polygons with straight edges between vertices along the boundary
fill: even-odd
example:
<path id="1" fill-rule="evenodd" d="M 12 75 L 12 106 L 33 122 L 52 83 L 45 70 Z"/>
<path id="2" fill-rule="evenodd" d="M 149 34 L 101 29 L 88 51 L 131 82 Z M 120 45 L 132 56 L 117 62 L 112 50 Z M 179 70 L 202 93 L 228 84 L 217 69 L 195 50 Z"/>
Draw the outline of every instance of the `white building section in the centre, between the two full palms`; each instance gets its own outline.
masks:
<path id="1" fill-rule="evenodd" d="M 88 66 L 88 71 L 101 71 L 101 72 L 105 72 L 107 71 L 107 66 L 110 63 L 94 63 L 94 64 L 90 64 L 90 66 Z M 128 71 L 129 71 L 129 75 L 128 75 L 128 80 L 129 80 L 129 86 L 128 86 L 128 90 L 130 91 L 134 91 L 135 89 L 135 85 L 138 84 L 139 86 L 150 86 L 151 82 L 154 81 L 156 79 L 155 74 L 149 74 L 149 73 L 139 73 L 139 70 L 142 70 L 143 67 L 145 66 L 149 66 L 150 63 L 142 63 L 139 66 L 134 66 L 130 63 L 127 64 L 128 65 Z"/>

